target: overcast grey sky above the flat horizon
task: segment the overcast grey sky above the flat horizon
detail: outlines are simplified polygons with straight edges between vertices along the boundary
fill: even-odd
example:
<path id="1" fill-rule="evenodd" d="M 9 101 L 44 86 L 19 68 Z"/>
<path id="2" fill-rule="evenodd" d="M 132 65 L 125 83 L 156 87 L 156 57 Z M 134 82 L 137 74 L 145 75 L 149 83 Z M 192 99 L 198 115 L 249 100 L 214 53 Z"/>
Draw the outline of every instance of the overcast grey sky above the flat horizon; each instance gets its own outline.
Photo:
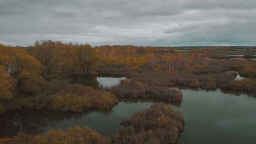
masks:
<path id="1" fill-rule="evenodd" d="M 0 0 L 0 43 L 256 45 L 256 0 Z"/>

